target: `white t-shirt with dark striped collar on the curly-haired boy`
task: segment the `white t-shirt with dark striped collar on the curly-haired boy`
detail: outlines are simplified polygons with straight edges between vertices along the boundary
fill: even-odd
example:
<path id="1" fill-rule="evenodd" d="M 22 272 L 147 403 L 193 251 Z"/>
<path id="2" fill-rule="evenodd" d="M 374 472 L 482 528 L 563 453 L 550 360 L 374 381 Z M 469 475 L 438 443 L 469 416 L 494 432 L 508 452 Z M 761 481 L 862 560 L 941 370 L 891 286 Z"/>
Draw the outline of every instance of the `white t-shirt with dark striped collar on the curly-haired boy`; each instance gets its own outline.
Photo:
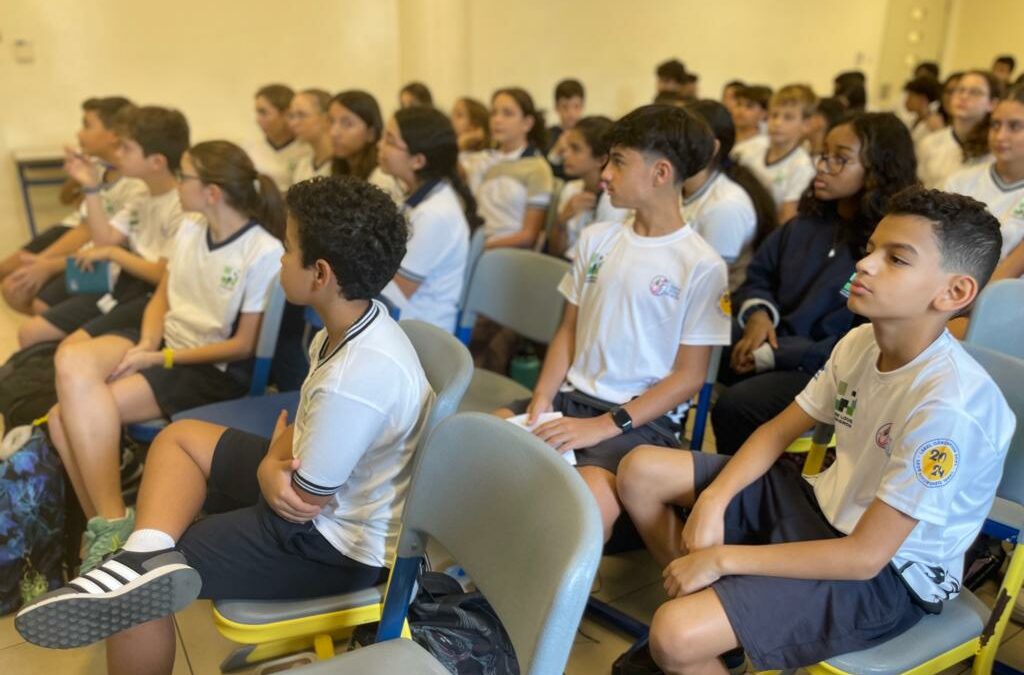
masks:
<path id="1" fill-rule="evenodd" d="M 413 452 L 434 392 L 416 349 L 380 302 L 326 351 L 309 345 L 309 374 L 295 417 L 293 481 L 331 495 L 313 526 L 343 555 L 385 566 L 394 558 Z"/>

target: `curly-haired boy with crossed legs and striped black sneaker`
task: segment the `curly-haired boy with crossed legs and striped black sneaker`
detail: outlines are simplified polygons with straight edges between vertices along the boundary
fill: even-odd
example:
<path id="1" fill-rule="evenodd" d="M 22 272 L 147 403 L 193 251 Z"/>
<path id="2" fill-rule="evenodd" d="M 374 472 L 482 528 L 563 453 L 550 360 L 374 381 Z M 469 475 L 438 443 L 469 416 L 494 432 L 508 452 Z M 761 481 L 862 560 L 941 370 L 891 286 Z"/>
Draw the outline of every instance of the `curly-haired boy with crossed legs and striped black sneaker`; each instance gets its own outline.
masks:
<path id="1" fill-rule="evenodd" d="M 398 270 L 408 228 L 386 194 L 354 178 L 313 178 L 287 201 L 282 284 L 325 324 L 295 424 L 283 413 L 270 439 L 198 421 L 167 427 L 124 548 L 26 606 L 15 620 L 26 639 L 110 637 L 111 673 L 170 673 L 171 614 L 201 586 L 211 599 L 288 599 L 386 579 L 434 398 L 413 345 L 372 300 Z"/>

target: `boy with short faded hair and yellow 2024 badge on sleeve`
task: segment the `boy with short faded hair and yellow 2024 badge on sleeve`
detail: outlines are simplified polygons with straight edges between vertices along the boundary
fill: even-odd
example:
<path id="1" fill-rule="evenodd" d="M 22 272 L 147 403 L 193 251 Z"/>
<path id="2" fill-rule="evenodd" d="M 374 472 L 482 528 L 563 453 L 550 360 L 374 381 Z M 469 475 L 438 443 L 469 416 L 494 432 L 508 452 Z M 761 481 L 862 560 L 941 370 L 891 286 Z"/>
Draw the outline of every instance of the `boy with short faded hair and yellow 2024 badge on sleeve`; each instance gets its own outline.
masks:
<path id="1" fill-rule="evenodd" d="M 794 404 L 731 459 L 626 458 L 620 495 L 673 598 L 650 632 L 666 672 L 724 673 L 717 657 L 737 645 L 759 670 L 807 666 L 885 642 L 959 593 L 1016 421 L 945 324 L 999 247 L 980 202 L 899 193 L 850 287 L 871 323 Z M 776 460 L 815 422 L 835 425 L 836 462 L 805 479 Z"/>

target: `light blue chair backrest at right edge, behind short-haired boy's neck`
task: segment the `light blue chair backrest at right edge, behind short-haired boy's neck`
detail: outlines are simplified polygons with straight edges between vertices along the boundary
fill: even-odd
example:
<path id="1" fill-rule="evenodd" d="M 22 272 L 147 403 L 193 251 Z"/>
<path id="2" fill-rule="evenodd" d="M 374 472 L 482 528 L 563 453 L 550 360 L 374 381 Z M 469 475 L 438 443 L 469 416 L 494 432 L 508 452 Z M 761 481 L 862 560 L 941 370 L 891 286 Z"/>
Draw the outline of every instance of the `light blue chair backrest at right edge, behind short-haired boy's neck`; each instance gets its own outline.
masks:
<path id="1" fill-rule="evenodd" d="M 966 342 L 1024 358 L 1024 279 L 992 282 L 971 310 Z"/>

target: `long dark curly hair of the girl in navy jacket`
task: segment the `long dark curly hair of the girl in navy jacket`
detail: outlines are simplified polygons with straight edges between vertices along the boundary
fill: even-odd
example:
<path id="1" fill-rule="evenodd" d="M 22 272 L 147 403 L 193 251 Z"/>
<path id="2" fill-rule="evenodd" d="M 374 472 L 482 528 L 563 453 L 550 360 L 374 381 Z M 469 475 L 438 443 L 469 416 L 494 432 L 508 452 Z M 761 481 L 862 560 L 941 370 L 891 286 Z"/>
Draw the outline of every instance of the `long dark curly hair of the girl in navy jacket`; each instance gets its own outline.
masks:
<path id="1" fill-rule="evenodd" d="M 833 128 L 845 124 L 849 124 L 860 139 L 859 159 L 864 167 L 857 214 L 850 221 L 842 221 L 837 201 L 816 198 L 813 183 L 801 198 L 798 212 L 804 216 L 841 220 L 841 241 L 859 257 L 874 226 L 885 215 L 889 198 L 918 183 L 918 160 L 910 132 L 892 113 L 857 113 Z"/>

